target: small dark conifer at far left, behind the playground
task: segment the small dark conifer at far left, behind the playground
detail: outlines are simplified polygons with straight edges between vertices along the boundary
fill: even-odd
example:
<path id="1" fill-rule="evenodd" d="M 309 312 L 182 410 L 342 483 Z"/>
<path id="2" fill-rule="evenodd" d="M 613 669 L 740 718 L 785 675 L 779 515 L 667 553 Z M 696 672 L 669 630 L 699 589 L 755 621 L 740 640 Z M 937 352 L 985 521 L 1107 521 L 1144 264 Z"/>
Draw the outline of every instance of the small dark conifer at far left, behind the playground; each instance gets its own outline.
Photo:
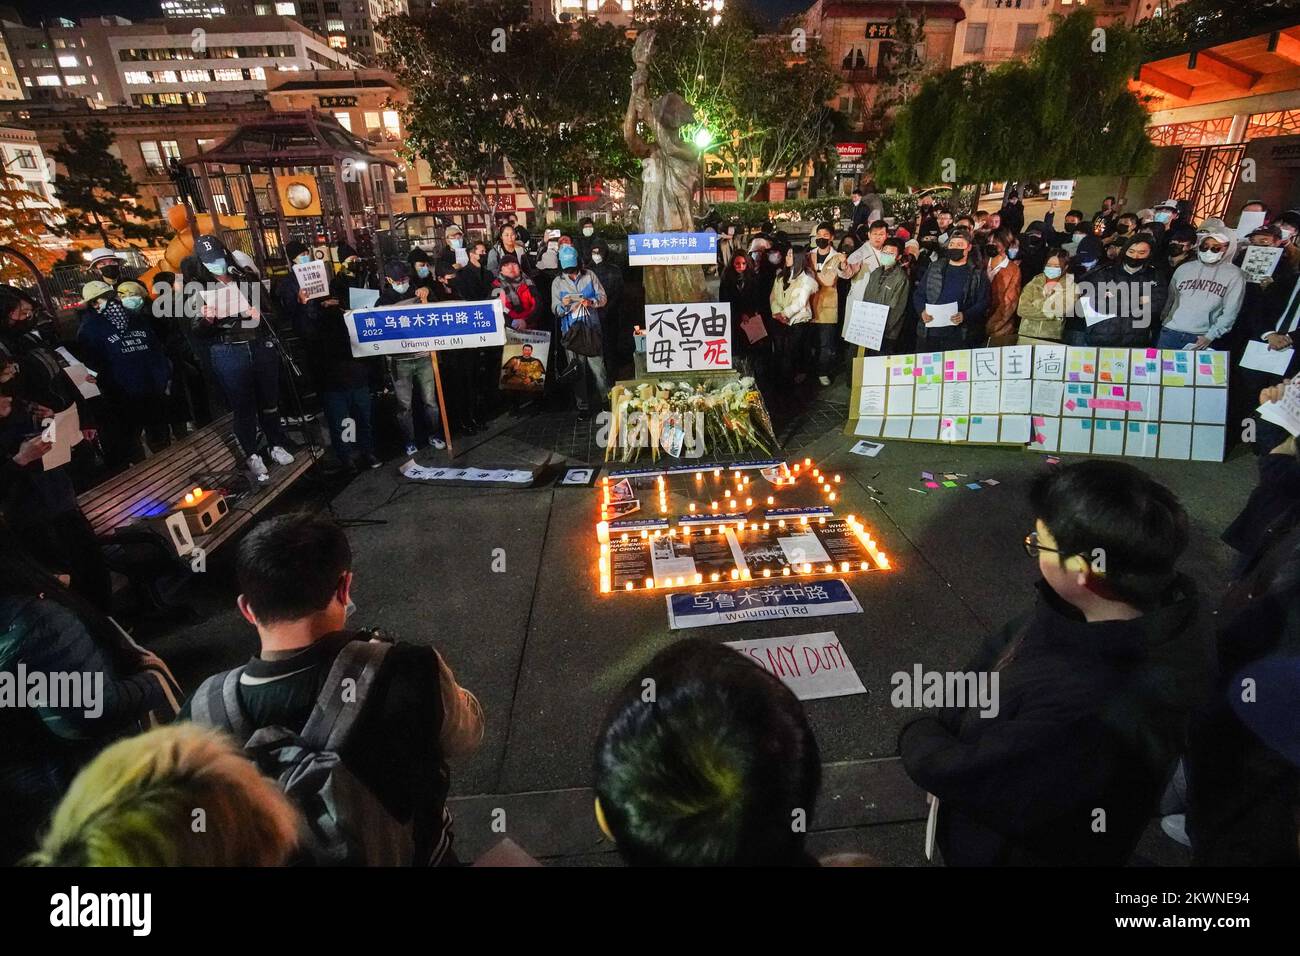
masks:
<path id="1" fill-rule="evenodd" d="M 64 207 L 60 234 L 99 235 L 105 246 L 110 230 L 146 242 L 160 235 L 159 225 L 140 215 L 126 164 L 109 152 L 116 139 L 99 120 L 81 129 L 64 126 L 64 142 L 51 152 L 62 168 L 55 177 L 55 195 Z"/>

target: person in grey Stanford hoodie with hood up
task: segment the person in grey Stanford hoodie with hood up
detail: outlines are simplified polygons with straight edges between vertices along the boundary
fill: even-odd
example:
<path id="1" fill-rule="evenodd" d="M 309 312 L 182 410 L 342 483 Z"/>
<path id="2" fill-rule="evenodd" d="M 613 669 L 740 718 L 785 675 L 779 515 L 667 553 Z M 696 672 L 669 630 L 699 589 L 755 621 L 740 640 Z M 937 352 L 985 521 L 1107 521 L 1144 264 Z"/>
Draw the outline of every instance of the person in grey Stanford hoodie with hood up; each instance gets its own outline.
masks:
<path id="1" fill-rule="evenodd" d="M 1160 349 L 1222 349 L 1216 345 L 1232 330 L 1245 298 L 1245 276 L 1232 265 L 1236 245 L 1223 220 L 1201 224 L 1196 259 L 1174 271 L 1160 338 Z"/>

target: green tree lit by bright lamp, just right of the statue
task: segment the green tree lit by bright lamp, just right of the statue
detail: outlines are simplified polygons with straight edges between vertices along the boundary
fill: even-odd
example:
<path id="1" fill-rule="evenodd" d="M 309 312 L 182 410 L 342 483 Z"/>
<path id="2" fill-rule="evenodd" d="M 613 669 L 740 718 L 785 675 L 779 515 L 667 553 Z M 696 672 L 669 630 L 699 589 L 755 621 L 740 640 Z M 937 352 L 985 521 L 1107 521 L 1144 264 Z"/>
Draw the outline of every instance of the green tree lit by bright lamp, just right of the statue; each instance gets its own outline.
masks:
<path id="1" fill-rule="evenodd" d="M 828 104 L 840 81 L 815 39 L 763 34 L 742 3 L 716 23 L 692 0 L 659 0 L 646 13 L 651 95 L 677 92 L 694 108 L 740 200 L 833 150 L 841 121 Z"/>

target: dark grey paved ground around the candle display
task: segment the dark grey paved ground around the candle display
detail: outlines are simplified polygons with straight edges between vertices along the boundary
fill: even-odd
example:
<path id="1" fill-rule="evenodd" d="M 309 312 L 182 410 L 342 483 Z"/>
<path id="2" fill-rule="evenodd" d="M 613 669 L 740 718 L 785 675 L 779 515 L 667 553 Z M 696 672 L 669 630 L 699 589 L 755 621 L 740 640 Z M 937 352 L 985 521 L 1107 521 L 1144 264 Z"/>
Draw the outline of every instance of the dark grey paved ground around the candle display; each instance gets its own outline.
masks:
<path id="1" fill-rule="evenodd" d="M 844 511 L 866 516 L 896 570 L 848 578 L 861 615 L 823 618 L 815 627 L 763 622 L 694 633 L 718 641 L 837 633 L 867 693 L 807 704 L 828 767 L 816 847 L 866 848 L 885 862 L 916 864 L 924 862 L 915 823 L 923 805 L 894 758 L 898 731 L 914 714 L 889 705 L 889 675 L 915 663 L 961 666 L 988 628 L 1026 605 L 1036 578 L 1020 546 L 1032 528 L 1026 488 L 1050 466 L 1044 455 L 1014 449 L 909 442 L 888 442 L 875 459 L 852 455 L 853 440 L 841 433 L 845 401 L 842 384 L 823 390 L 802 415 L 779 423 L 779 432 L 786 453 L 844 475 Z M 547 447 L 573 462 L 602 458 L 594 427 L 568 414 L 498 428 L 464 460 L 517 466 L 543 460 Z M 434 454 L 445 455 L 421 460 L 437 460 Z M 1186 570 L 1217 594 L 1228 566 L 1218 535 L 1253 485 L 1253 460 L 1238 453 L 1223 464 L 1140 466 L 1182 496 L 1193 519 Z M 922 470 L 1001 484 L 920 496 L 907 488 L 918 485 Z M 868 483 L 880 489 L 881 505 L 870 501 Z M 403 480 L 390 463 L 341 489 L 304 484 L 292 503 L 330 507 L 348 523 L 355 620 L 437 645 L 484 704 L 485 744 L 455 770 L 462 845 L 488 845 L 491 810 L 504 808 L 508 832 L 540 856 L 608 862 L 610 847 L 590 816 L 593 741 L 614 691 L 675 635 L 662 593 L 597 592 L 593 492 L 436 488 Z M 497 548 L 506 550 L 504 574 L 490 568 Z M 233 607 L 229 567 L 222 561 L 209 567 L 194 594 L 202 623 L 151 639 L 187 687 L 240 663 L 255 648 Z M 1157 836 L 1143 852 L 1153 861 L 1182 861 Z"/>

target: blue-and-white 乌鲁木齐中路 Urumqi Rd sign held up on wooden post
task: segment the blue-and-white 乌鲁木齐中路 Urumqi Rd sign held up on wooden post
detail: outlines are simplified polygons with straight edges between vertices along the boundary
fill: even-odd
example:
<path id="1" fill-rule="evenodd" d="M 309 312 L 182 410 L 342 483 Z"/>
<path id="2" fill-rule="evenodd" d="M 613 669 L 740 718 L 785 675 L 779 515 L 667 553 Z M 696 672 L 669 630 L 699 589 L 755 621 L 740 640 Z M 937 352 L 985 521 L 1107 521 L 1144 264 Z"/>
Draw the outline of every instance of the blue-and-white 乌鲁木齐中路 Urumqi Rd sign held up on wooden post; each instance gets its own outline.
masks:
<path id="1" fill-rule="evenodd" d="M 377 306 L 344 315 L 358 358 L 506 343 L 500 299 Z"/>

